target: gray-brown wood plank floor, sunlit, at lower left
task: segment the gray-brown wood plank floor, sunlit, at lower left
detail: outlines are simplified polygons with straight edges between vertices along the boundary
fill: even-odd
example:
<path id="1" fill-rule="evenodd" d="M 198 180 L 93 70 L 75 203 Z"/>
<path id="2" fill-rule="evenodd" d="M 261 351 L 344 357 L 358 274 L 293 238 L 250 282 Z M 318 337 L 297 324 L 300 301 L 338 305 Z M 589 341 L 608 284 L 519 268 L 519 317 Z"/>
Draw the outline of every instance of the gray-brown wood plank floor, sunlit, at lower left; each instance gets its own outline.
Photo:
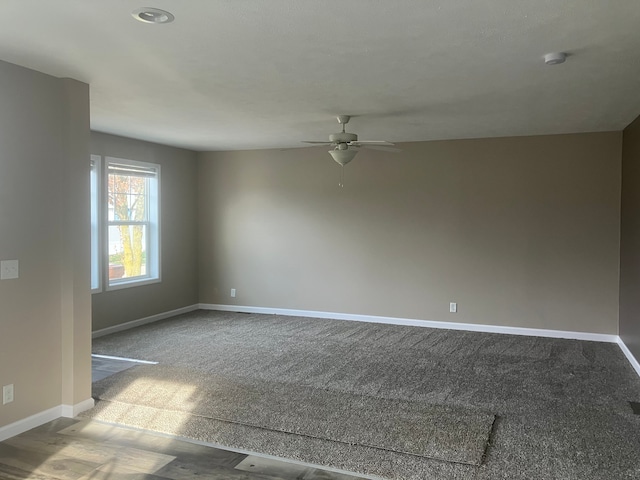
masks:
<path id="1" fill-rule="evenodd" d="M 93 380 L 135 365 L 93 359 Z M 59 418 L 0 442 L 0 480 L 363 480 L 91 420 Z"/>

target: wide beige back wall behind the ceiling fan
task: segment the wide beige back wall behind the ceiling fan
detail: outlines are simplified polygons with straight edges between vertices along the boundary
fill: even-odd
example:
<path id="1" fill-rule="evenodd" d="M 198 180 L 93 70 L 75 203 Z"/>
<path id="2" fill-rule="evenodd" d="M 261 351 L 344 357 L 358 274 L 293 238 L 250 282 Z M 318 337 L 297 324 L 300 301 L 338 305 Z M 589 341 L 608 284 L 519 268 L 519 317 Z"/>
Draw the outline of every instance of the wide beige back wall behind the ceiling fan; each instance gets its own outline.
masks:
<path id="1" fill-rule="evenodd" d="M 617 334 L 620 132 L 402 148 L 199 154 L 200 301 Z"/>

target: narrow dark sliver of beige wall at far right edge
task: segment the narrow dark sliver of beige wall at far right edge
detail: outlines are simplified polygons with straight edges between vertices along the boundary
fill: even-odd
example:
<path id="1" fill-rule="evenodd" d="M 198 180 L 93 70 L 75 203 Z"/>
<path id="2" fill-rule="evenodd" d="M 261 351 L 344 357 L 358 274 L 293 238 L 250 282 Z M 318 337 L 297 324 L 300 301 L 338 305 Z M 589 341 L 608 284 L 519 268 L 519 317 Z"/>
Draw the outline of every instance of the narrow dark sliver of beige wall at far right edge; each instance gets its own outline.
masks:
<path id="1" fill-rule="evenodd" d="M 623 134 L 620 337 L 640 359 L 640 117 Z"/>

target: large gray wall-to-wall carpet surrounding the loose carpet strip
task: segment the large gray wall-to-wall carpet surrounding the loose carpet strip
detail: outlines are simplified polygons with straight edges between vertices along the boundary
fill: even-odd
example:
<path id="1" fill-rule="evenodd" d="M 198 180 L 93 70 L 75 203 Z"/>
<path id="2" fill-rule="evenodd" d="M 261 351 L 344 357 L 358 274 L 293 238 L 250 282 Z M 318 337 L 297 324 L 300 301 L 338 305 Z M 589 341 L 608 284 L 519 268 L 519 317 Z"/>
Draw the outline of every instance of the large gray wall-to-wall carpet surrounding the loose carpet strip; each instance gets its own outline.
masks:
<path id="1" fill-rule="evenodd" d="M 385 478 L 640 479 L 640 416 L 628 403 L 640 400 L 640 379 L 615 344 L 200 311 L 96 339 L 94 352 L 245 385 L 290 384 L 498 417 L 480 466 L 214 419 L 178 421 L 148 405 L 102 401 L 92 415 L 105 420 L 170 426 Z M 243 445 L 234 444 L 241 438 Z"/>

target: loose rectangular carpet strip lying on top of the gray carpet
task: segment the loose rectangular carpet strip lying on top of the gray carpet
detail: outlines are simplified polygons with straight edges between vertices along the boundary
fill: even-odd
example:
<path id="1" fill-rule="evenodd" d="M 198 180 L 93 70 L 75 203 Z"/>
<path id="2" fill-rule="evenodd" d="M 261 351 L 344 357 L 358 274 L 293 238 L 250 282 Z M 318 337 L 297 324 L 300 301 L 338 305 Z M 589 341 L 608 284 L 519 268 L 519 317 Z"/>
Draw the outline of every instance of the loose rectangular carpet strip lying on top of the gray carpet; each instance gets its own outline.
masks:
<path id="1" fill-rule="evenodd" d="M 322 440 L 480 465 L 495 417 L 478 409 L 295 384 L 239 383 L 167 365 L 96 382 L 99 400 L 141 405 Z"/>

